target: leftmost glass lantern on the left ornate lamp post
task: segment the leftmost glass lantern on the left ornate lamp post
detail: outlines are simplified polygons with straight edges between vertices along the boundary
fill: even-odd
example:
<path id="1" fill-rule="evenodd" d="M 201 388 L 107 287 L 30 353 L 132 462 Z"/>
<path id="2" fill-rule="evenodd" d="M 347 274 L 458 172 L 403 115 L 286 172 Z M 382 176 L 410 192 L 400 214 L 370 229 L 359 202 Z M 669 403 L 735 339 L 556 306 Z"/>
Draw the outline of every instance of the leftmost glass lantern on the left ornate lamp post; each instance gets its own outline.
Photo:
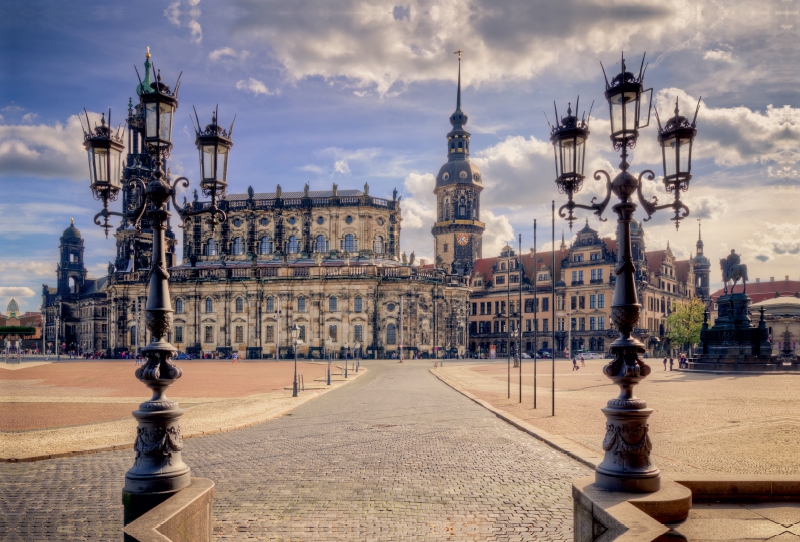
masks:
<path id="1" fill-rule="evenodd" d="M 89 183 L 95 198 L 114 200 L 121 187 L 122 151 L 125 146 L 122 138 L 117 137 L 106 125 L 105 113 L 94 132 L 84 133 L 83 146 L 89 157 Z"/>

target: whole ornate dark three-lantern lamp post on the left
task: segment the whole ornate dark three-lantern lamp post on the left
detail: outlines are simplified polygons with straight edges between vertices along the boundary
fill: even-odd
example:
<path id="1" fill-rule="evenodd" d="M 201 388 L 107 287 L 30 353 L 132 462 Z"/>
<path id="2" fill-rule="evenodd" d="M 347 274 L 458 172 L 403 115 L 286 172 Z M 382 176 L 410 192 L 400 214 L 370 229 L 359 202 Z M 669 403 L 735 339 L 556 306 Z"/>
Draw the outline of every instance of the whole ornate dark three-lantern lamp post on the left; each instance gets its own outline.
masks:
<path id="1" fill-rule="evenodd" d="M 147 71 L 144 81 L 139 77 L 137 87 L 139 104 L 136 106 L 135 121 L 131 129 L 139 132 L 137 137 L 140 136 L 143 140 L 153 167 L 149 176 L 137 177 L 131 181 L 134 185 L 138 185 L 144 194 L 138 208 L 125 209 L 123 213 L 108 210 L 108 203 L 117 198 L 121 188 L 118 161 L 122 152 L 122 142 L 118 137 L 118 131 L 112 133 L 110 127 L 105 127 L 104 119 L 94 130 L 91 126 L 84 128 L 84 146 L 89 155 L 90 187 L 94 196 L 103 202 L 103 210 L 94 218 L 95 224 L 104 228 L 108 236 L 108 230 L 112 227 L 108 223 L 108 217 L 116 215 L 131 220 L 139 229 L 142 216 L 146 212 L 153 228 L 153 258 L 145 308 L 145 324 L 150 329 L 152 340 L 141 349 L 146 362 L 135 373 L 136 378 L 152 390 L 153 397 L 139 405 L 139 409 L 133 412 L 138 422 L 134 443 L 136 458 L 133 466 L 125 474 L 123 490 L 125 524 L 187 487 L 191 482 L 189 466 L 181 458 L 183 444 L 178 422 L 183 410 L 165 395 L 166 389 L 182 374 L 181 369 L 172 362 L 177 350 L 166 340 L 172 328 L 173 313 L 165 253 L 165 231 L 170 217 L 167 205 L 172 200 L 178 214 L 184 219 L 189 215 L 210 213 L 212 228 L 214 224 L 225 220 L 225 213 L 216 205 L 217 198 L 225 194 L 224 169 L 222 183 L 215 179 L 212 184 L 203 185 L 204 188 L 208 186 L 207 195 L 212 197 L 210 208 L 190 211 L 181 209 L 177 204 L 176 186 L 181 183 L 187 187 L 189 180 L 180 177 L 171 182 L 169 172 L 164 174 L 164 161 L 172 149 L 172 121 L 178 107 L 180 77 L 174 91 L 161 82 L 160 72 L 156 81 L 151 83 L 150 66 L 148 47 L 145 61 Z M 86 120 L 88 122 L 88 115 Z M 213 124 L 216 124 L 216 115 Z M 232 145 L 230 132 L 211 136 L 198 131 L 197 136 L 201 163 L 203 147 L 206 146 L 209 137 L 219 139 L 220 145 L 225 146 L 227 151 Z M 203 180 L 207 181 L 206 178 Z M 100 218 L 104 219 L 102 224 Z"/>

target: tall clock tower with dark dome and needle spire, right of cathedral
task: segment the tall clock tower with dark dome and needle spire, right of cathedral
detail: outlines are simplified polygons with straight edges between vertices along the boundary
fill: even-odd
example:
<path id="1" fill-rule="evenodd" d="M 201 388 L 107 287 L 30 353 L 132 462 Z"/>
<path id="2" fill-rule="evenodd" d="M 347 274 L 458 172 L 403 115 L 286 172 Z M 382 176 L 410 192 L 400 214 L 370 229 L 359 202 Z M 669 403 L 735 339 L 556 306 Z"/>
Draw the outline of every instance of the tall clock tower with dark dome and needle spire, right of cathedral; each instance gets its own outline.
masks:
<path id="1" fill-rule="evenodd" d="M 447 134 L 447 162 L 436 176 L 436 223 L 434 239 L 436 267 L 448 272 L 469 274 L 482 257 L 483 231 L 480 221 L 481 172 L 469 161 L 469 136 L 464 125 L 467 114 L 461 110 L 461 50 L 458 54 L 456 110 L 450 115 L 453 129 Z"/>

